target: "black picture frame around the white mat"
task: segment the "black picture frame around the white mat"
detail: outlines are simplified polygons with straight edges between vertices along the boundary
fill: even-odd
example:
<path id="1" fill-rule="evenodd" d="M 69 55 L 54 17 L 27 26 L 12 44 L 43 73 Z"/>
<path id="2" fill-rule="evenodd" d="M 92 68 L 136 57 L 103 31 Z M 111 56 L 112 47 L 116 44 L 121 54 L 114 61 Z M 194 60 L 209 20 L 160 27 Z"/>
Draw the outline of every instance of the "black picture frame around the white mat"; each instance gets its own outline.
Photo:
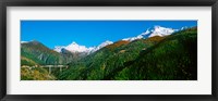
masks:
<path id="1" fill-rule="evenodd" d="M 7 94 L 7 7 L 211 7 L 213 94 Z M 218 101 L 217 17 L 217 0 L 0 0 L 0 99 L 1 101 Z"/>

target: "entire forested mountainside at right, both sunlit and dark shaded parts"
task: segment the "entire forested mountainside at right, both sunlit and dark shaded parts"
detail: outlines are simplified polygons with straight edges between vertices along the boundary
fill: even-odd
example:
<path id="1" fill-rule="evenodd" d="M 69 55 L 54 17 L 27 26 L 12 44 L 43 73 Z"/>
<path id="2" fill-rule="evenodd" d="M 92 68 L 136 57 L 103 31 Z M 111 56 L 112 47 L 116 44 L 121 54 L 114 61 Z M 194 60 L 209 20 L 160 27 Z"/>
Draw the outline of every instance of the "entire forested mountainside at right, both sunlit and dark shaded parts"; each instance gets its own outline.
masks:
<path id="1" fill-rule="evenodd" d="M 59 79 L 197 79 L 197 29 L 118 41 L 70 64 Z"/>

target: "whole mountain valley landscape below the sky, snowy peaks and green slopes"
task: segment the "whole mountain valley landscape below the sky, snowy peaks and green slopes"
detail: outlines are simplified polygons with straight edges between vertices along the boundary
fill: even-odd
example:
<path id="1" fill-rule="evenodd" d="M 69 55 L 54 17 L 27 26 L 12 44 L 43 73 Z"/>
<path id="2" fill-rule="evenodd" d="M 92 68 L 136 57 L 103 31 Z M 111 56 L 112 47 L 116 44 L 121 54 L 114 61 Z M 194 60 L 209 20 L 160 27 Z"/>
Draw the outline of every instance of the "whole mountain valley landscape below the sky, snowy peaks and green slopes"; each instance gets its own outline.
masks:
<path id="1" fill-rule="evenodd" d="M 21 80 L 197 80 L 197 27 L 155 29 L 89 48 L 23 42 Z"/>

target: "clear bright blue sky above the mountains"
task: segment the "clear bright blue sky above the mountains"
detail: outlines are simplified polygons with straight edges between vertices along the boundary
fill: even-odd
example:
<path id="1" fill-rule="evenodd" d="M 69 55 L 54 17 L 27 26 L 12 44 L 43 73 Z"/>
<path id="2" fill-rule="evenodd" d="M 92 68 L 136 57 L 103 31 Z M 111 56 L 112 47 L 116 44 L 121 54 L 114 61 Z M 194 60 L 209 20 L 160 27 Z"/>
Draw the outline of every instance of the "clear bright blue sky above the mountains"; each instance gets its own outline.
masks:
<path id="1" fill-rule="evenodd" d="M 134 37 L 155 25 L 180 29 L 197 21 L 21 21 L 21 40 L 37 40 L 53 49 L 72 41 L 86 47 Z"/>

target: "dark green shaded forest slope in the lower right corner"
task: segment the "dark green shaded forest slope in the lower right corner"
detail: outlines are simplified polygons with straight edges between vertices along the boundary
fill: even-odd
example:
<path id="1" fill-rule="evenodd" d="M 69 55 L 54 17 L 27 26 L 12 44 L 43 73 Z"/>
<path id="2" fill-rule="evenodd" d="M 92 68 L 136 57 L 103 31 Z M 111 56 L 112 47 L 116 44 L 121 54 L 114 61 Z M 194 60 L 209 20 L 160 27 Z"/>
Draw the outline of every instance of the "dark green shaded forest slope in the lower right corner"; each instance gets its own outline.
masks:
<path id="1" fill-rule="evenodd" d="M 113 79 L 197 79 L 197 29 L 171 35 L 141 52 Z"/>

